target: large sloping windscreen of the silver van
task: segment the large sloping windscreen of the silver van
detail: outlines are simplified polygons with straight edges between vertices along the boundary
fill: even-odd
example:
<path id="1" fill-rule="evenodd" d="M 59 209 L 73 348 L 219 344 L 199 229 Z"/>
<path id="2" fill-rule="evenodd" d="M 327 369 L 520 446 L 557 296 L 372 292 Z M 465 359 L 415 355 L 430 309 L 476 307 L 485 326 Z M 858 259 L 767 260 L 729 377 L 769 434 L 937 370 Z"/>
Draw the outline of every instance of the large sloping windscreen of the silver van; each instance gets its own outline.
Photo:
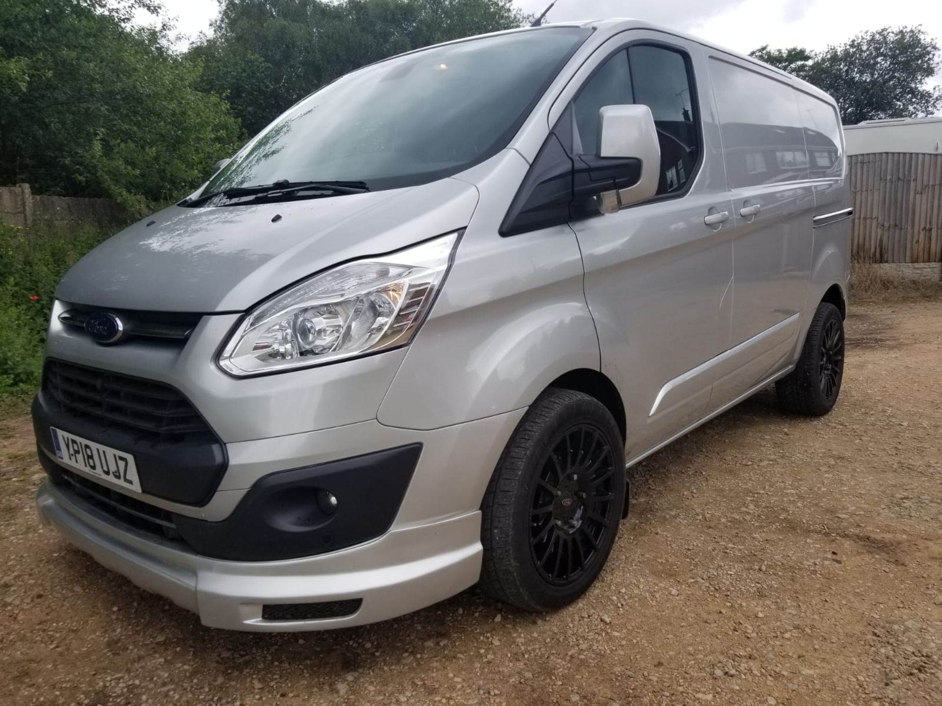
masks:
<path id="1" fill-rule="evenodd" d="M 493 156 L 591 30 L 459 41 L 352 72 L 295 104 L 204 193 L 288 182 L 424 184 Z"/>

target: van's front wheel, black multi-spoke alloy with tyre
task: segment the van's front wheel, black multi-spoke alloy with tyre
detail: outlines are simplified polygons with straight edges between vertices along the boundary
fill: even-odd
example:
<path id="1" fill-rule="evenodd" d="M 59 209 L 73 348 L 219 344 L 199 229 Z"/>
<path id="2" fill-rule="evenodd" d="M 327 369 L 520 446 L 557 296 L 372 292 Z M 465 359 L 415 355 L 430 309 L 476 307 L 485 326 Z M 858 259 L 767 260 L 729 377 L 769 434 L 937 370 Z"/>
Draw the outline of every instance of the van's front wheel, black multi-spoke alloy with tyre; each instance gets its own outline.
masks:
<path id="1" fill-rule="evenodd" d="M 543 612 L 575 601 L 605 566 L 625 498 L 625 446 L 609 410 L 551 388 L 508 441 L 481 505 L 481 586 Z"/>

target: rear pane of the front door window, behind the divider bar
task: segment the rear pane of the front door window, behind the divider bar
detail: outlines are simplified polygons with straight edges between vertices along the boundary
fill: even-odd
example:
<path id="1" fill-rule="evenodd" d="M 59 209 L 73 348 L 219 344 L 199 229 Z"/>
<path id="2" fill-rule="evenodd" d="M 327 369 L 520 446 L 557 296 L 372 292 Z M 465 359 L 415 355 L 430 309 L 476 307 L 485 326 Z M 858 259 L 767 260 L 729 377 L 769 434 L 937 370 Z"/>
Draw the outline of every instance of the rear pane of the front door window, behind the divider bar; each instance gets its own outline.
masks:
<path id="1" fill-rule="evenodd" d="M 647 105 L 660 140 L 658 195 L 679 191 L 693 176 L 700 152 L 694 122 L 693 86 L 687 60 L 659 46 L 628 48 L 635 103 Z"/>

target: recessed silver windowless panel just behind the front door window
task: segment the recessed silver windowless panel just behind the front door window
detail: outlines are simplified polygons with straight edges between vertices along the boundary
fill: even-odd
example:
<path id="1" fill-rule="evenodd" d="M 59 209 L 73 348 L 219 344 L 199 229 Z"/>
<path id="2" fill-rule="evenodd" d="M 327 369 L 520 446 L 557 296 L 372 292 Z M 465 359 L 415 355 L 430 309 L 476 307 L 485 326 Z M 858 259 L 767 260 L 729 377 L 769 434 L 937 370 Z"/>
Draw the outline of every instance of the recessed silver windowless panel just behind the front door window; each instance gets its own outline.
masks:
<path id="1" fill-rule="evenodd" d="M 808 152 L 796 91 L 720 59 L 711 58 L 709 63 L 729 185 L 807 179 Z"/>

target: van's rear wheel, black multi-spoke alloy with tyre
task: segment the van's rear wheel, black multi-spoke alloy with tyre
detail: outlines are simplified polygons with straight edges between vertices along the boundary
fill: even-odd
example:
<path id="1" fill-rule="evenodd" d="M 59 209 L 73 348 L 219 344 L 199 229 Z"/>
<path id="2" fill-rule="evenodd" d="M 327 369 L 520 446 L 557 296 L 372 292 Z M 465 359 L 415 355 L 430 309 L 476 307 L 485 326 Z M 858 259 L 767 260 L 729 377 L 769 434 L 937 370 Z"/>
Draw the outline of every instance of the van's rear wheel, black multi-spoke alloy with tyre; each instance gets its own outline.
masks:
<path id="1" fill-rule="evenodd" d="M 844 320 L 834 304 L 821 302 L 795 369 L 775 383 L 784 409 L 820 417 L 834 407 L 844 377 Z"/>

